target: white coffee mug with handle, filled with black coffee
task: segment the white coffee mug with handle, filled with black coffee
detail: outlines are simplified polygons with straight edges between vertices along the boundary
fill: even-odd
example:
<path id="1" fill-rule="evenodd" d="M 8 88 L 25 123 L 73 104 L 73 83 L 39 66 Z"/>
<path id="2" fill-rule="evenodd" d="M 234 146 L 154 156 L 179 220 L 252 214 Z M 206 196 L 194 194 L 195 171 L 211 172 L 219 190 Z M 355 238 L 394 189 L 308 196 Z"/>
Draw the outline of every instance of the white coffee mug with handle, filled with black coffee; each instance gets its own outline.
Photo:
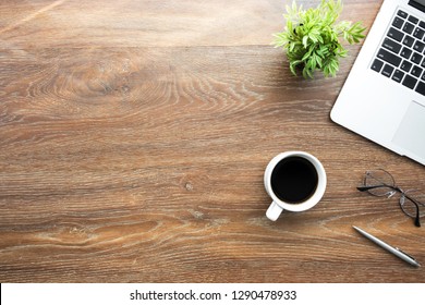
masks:
<path id="1" fill-rule="evenodd" d="M 284 164 L 286 162 L 289 163 Z M 299 168 L 296 168 L 298 166 L 300 167 L 300 170 Z M 281 173 L 275 172 L 275 170 L 281 171 Z M 317 175 L 314 175 L 314 171 Z M 284 176 L 284 179 L 279 179 L 279 174 L 281 176 Z M 290 174 L 293 174 L 294 179 L 292 179 Z M 284 192 L 292 192 L 293 198 L 298 196 L 296 190 L 299 188 L 296 187 L 296 185 L 291 185 L 291 184 L 293 183 L 303 184 L 304 182 L 303 174 L 306 175 L 305 178 L 306 180 L 309 179 L 309 182 L 307 184 L 311 184 L 311 186 L 308 185 L 305 186 L 305 187 L 309 187 L 308 188 L 311 190 L 311 192 L 308 191 L 309 194 L 300 194 L 301 197 L 296 198 L 298 202 L 292 202 L 292 199 L 289 200 L 288 198 L 286 199 L 287 196 L 284 194 L 282 195 L 282 193 Z M 274 182 L 271 181 L 272 176 L 274 176 Z M 288 185 L 282 185 L 282 183 L 280 183 L 281 185 L 279 185 L 279 182 L 284 182 L 284 181 L 287 181 Z M 304 211 L 311 209 L 324 196 L 326 190 L 326 182 L 327 179 L 326 179 L 325 169 L 316 157 L 305 151 L 286 151 L 279 154 L 278 156 L 276 156 L 270 160 L 264 173 L 264 185 L 267 194 L 272 199 L 272 203 L 268 207 L 266 212 L 267 218 L 272 221 L 276 221 L 283 210 Z M 290 187 L 291 190 L 284 191 L 286 186 Z M 304 185 L 300 187 L 302 188 L 304 187 Z"/>

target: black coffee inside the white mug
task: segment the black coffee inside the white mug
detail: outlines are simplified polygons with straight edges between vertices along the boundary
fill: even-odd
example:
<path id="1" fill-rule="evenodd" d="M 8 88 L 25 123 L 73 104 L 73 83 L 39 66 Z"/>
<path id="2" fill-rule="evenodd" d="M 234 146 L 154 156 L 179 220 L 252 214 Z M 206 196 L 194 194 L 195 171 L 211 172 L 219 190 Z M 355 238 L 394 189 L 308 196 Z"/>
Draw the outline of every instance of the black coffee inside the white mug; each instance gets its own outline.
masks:
<path id="1" fill-rule="evenodd" d="M 307 200 L 316 192 L 318 175 L 315 167 L 305 158 L 288 157 L 271 172 L 271 188 L 276 196 L 288 204 Z"/>

